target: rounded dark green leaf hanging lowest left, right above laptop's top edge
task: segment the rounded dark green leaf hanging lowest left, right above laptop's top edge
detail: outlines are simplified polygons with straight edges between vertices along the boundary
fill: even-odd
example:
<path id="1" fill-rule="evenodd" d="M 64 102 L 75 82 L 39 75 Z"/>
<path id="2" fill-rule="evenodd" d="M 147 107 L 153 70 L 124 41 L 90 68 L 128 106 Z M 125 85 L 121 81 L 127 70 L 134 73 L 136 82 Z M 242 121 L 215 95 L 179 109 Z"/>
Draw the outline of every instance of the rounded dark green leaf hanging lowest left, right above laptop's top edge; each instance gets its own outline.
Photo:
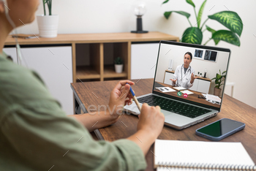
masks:
<path id="1" fill-rule="evenodd" d="M 189 27 L 184 31 L 181 42 L 201 45 L 203 39 L 202 31 L 197 27 Z"/>

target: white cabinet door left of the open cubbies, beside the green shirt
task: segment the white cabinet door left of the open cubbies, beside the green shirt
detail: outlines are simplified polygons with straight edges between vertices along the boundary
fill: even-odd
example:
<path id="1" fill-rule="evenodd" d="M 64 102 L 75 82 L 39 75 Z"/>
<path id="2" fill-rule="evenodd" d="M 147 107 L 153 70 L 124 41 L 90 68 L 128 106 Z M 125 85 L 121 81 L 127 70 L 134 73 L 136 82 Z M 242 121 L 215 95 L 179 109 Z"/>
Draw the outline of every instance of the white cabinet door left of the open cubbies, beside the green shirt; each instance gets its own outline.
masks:
<path id="1" fill-rule="evenodd" d="M 73 114 L 72 47 L 24 47 L 21 52 L 28 67 L 39 73 L 63 110 Z"/>

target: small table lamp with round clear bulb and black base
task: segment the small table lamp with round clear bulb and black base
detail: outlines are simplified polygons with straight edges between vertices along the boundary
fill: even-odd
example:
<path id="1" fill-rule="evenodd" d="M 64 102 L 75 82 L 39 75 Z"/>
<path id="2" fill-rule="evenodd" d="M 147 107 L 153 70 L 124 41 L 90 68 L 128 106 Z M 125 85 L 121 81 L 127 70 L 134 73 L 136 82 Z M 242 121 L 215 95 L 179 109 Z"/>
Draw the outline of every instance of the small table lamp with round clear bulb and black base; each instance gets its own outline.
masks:
<path id="1" fill-rule="evenodd" d="M 148 31 L 143 31 L 142 28 L 142 16 L 146 13 L 145 4 L 138 4 L 135 7 L 135 15 L 137 16 L 137 31 L 131 31 L 131 33 L 148 33 Z"/>

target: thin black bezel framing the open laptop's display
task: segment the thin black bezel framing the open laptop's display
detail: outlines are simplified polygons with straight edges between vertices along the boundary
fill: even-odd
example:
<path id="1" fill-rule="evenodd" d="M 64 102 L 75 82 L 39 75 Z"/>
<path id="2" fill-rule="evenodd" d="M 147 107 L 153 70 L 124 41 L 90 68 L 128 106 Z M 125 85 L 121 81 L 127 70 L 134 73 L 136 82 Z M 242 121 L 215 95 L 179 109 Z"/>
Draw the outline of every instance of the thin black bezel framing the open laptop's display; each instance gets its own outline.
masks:
<path id="1" fill-rule="evenodd" d="M 201 49 L 207 49 L 207 50 L 218 50 L 218 51 L 222 51 L 222 52 L 227 52 L 227 53 L 229 53 L 229 56 L 228 56 L 228 59 L 227 59 L 227 69 L 228 69 L 229 61 L 230 61 L 230 53 L 231 53 L 230 49 L 222 48 L 222 47 L 212 47 L 212 46 L 206 46 L 206 45 L 195 45 L 195 44 L 188 44 L 188 43 L 183 43 L 183 42 L 172 42 L 172 41 L 161 40 L 159 42 L 159 49 L 158 49 L 158 54 L 157 54 L 157 64 L 156 64 L 156 69 L 155 69 L 155 72 L 154 72 L 154 83 L 155 83 L 155 80 L 156 80 L 158 59 L 159 59 L 159 53 L 160 53 L 160 49 L 161 49 L 161 45 L 162 44 L 178 45 L 178 46 L 184 46 L 184 47 L 195 47 L 195 48 L 201 48 Z M 227 69 L 226 69 L 226 75 L 227 75 Z M 227 76 L 226 76 L 226 78 L 227 78 Z M 225 79 L 225 83 L 226 83 L 226 81 L 227 80 Z M 195 104 L 195 105 L 198 105 L 200 107 L 206 107 L 206 108 L 218 110 L 219 112 L 220 112 L 220 110 L 222 108 L 222 101 L 219 104 L 219 107 L 213 107 L 211 105 L 201 104 L 199 102 L 192 102 L 190 100 L 182 99 L 180 97 L 170 96 L 170 95 L 167 95 L 167 94 L 159 93 L 157 91 L 154 91 L 154 83 L 153 83 L 153 88 L 152 88 L 152 94 L 157 94 L 159 96 L 165 96 L 165 97 L 170 98 L 170 99 L 180 100 L 181 102 L 187 102 L 187 103 L 190 103 L 190 104 Z M 224 94 L 224 91 L 225 91 L 225 83 L 223 85 L 222 97 L 223 97 L 223 94 Z"/>

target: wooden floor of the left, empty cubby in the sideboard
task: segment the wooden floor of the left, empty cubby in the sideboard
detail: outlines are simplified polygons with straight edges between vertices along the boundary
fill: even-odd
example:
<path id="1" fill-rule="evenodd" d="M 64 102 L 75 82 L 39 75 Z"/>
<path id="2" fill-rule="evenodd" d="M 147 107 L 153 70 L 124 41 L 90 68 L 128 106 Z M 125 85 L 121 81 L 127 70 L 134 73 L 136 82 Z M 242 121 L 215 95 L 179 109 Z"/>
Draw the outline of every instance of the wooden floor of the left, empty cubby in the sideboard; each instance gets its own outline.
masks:
<path id="1" fill-rule="evenodd" d="M 100 78 L 99 73 L 92 66 L 77 66 L 76 79 Z"/>

